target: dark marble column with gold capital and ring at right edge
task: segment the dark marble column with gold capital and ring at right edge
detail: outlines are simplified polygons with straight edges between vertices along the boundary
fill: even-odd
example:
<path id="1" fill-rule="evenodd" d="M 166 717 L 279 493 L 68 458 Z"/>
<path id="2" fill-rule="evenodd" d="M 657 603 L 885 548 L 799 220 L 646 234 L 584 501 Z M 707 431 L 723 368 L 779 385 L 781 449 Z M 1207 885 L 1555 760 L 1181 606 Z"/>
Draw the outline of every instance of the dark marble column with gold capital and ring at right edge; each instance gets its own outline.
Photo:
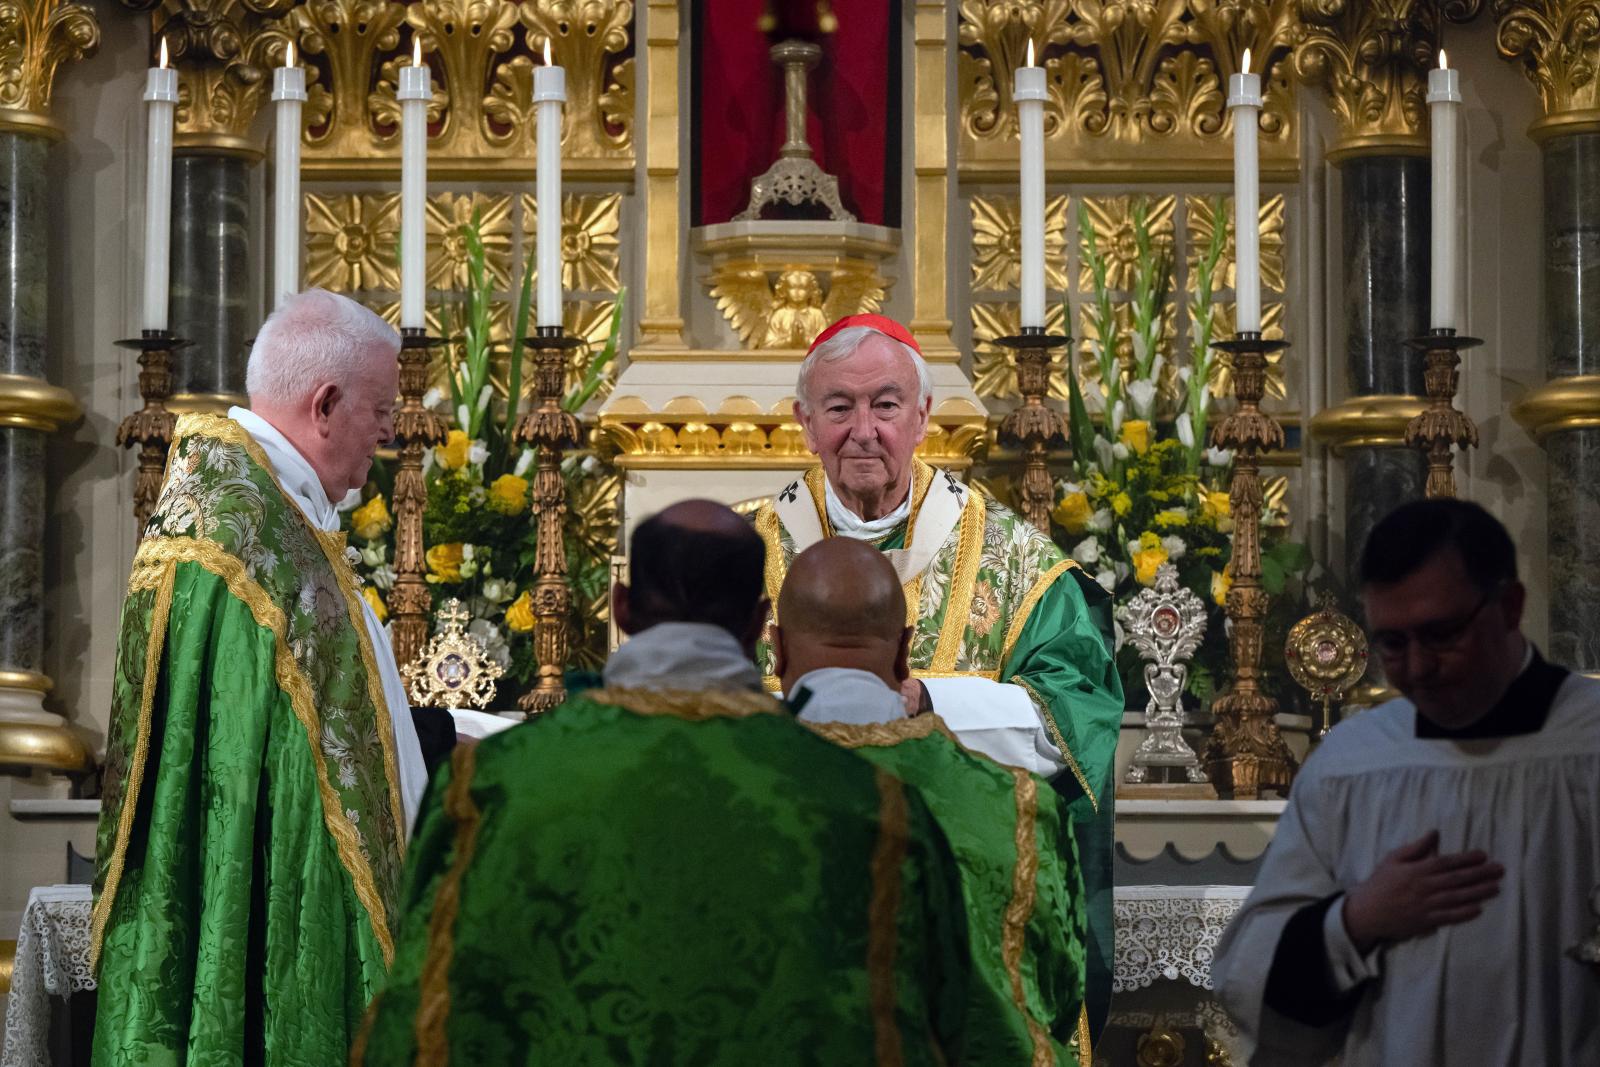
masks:
<path id="1" fill-rule="evenodd" d="M 1600 0 L 1493 0 L 1496 43 L 1544 115 L 1544 309 L 1549 381 L 1512 414 L 1549 461 L 1550 659 L 1600 670 Z"/>

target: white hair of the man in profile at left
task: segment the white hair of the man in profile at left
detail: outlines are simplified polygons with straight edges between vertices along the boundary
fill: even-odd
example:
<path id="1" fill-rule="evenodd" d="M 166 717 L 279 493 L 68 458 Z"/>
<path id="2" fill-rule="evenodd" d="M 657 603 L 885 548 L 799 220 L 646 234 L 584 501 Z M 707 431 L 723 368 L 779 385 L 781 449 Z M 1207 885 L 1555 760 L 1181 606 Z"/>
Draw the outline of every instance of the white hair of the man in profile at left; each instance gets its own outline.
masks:
<path id="1" fill-rule="evenodd" d="M 325 382 L 347 384 L 373 357 L 395 358 L 400 334 L 347 296 L 306 290 L 267 315 L 250 349 L 245 390 L 253 405 L 294 405 Z"/>

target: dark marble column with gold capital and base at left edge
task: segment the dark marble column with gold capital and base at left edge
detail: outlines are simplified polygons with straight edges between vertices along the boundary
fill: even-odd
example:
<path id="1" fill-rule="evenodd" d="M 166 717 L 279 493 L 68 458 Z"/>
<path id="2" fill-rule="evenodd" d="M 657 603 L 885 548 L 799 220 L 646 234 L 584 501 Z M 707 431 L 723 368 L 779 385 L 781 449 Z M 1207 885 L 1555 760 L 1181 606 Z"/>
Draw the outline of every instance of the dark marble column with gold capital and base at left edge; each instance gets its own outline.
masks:
<path id="1" fill-rule="evenodd" d="M 45 443 L 77 422 L 77 400 L 46 378 L 50 216 L 46 158 L 56 72 L 99 46 L 80 3 L 19 0 L 0 21 L 0 769 L 91 763 L 45 710 Z"/>

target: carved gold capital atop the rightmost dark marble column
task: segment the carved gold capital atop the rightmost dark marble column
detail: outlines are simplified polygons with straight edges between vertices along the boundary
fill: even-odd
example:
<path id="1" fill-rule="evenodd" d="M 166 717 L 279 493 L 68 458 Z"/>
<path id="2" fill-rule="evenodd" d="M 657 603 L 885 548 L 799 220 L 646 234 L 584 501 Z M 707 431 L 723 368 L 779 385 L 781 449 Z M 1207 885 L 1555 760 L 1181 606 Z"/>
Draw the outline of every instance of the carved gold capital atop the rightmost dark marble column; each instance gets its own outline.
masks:
<path id="1" fill-rule="evenodd" d="M 1539 91 L 1536 141 L 1600 130 L 1600 0 L 1491 0 L 1494 43 Z"/>

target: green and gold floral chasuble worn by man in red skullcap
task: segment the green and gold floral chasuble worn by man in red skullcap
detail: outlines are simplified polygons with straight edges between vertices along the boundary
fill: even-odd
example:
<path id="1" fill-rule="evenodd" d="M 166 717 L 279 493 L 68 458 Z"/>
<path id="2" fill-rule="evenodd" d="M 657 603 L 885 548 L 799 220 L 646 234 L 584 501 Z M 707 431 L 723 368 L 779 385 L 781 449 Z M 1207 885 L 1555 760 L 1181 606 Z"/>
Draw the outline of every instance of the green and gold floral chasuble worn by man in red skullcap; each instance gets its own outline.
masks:
<path id="1" fill-rule="evenodd" d="M 757 512 L 774 605 L 795 553 L 834 536 L 824 486 L 813 467 Z M 878 547 L 906 587 L 912 673 L 1022 686 L 1067 765 L 1051 784 L 1069 801 L 1083 869 L 1085 1014 L 1098 1035 L 1110 1009 L 1112 763 L 1123 710 L 1110 595 L 1021 515 L 922 461 L 904 533 Z M 757 656 L 776 689 L 765 641 Z"/>

